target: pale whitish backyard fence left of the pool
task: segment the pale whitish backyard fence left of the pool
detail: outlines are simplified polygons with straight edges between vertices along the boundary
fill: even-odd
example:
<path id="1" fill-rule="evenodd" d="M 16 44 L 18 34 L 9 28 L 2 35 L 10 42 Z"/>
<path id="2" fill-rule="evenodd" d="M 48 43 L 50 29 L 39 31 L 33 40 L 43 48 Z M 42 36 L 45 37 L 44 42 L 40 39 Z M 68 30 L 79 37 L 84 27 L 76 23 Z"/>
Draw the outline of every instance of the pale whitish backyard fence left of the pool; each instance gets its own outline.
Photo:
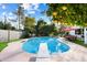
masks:
<path id="1" fill-rule="evenodd" d="M 0 30 L 0 42 L 18 40 L 22 35 L 21 31 Z"/>

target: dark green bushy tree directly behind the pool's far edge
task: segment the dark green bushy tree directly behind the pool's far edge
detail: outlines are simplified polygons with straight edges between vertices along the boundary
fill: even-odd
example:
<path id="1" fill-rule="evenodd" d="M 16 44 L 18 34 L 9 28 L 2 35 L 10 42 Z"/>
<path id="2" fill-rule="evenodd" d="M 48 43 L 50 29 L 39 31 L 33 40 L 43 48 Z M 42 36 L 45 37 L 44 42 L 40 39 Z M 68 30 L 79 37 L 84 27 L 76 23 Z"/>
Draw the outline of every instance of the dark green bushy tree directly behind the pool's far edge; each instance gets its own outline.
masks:
<path id="1" fill-rule="evenodd" d="M 35 26 L 37 36 L 50 36 L 54 35 L 56 28 L 54 24 L 47 24 L 44 20 L 39 20 Z M 56 34 L 55 34 L 56 35 Z"/>

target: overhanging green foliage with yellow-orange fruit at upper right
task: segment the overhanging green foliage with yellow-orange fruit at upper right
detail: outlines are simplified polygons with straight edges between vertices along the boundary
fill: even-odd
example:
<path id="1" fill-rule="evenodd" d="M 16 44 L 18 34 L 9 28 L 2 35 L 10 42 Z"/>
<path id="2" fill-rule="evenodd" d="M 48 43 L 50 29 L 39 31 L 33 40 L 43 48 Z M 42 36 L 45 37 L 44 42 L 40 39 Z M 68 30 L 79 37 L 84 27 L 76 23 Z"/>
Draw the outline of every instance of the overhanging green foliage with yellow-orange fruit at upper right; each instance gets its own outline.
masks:
<path id="1" fill-rule="evenodd" d="M 46 14 L 53 17 L 55 23 L 66 25 L 87 25 L 86 3 L 48 3 Z"/>

